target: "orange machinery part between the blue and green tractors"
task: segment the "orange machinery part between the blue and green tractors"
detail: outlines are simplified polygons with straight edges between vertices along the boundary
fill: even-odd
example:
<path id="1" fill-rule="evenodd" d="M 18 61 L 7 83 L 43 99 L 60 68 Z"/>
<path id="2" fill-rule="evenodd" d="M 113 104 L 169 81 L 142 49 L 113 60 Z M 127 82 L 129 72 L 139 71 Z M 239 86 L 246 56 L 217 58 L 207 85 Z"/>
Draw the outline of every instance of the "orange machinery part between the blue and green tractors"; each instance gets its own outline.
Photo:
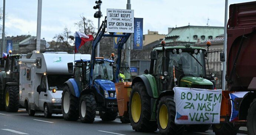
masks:
<path id="1" fill-rule="evenodd" d="M 115 83 L 116 99 L 119 116 L 128 114 L 128 103 L 132 90 L 132 82 Z"/>

